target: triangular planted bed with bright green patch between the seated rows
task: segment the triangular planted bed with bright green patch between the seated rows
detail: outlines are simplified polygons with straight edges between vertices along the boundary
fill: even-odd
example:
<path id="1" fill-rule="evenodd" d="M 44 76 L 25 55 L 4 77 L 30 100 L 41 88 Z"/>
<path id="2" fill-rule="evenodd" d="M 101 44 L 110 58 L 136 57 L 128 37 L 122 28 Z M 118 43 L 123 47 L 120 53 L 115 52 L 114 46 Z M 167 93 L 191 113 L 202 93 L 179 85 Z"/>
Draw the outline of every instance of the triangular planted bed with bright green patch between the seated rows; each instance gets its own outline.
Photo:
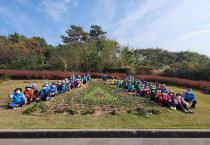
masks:
<path id="1" fill-rule="evenodd" d="M 86 88 L 70 91 L 49 102 L 35 104 L 23 113 L 31 115 L 134 113 L 145 117 L 160 113 L 159 106 L 149 99 L 139 97 L 138 94 L 125 93 L 122 89 L 102 81 L 91 81 L 87 85 Z"/>

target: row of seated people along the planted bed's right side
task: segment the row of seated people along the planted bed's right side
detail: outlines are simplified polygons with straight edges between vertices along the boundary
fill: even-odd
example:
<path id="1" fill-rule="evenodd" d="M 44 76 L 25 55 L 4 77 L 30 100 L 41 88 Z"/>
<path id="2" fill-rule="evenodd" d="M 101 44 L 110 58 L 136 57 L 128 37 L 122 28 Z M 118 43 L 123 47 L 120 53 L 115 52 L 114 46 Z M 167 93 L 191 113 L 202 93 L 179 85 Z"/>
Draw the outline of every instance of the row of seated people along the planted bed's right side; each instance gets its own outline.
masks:
<path id="1" fill-rule="evenodd" d="M 104 81 L 107 79 L 106 75 L 102 77 Z M 120 78 L 115 80 L 114 77 L 110 80 L 111 85 L 116 85 L 128 92 L 137 92 L 140 96 L 150 98 L 152 101 L 157 102 L 160 106 L 169 107 L 171 110 L 182 110 L 185 113 L 193 113 L 190 108 L 195 108 L 197 103 L 195 94 L 191 88 L 188 88 L 183 94 L 168 91 L 165 84 L 156 82 L 153 85 L 152 82 L 141 81 L 140 79 L 134 79 L 131 75 L 121 81 Z M 191 106 L 188 105 L 191 104 Z"/>

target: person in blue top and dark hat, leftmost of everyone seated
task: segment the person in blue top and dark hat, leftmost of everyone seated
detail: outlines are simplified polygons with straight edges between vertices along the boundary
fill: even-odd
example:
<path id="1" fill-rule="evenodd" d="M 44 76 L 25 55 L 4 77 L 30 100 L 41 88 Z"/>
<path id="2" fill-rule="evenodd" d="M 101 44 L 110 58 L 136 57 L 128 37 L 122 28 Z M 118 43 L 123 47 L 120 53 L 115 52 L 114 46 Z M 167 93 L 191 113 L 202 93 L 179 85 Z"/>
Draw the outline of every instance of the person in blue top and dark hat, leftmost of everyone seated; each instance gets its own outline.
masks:
<path id="1" fill-rule="evenodd" d="M 27 99 L 22 92 L 21 88 L 16 88 L 14 93 L 9 93 L 9 98 L 13 99 L 13 103 L 8 103 L 8 107 L 16 109 L 18 107 L 22 107 L 27 103 Z"/>

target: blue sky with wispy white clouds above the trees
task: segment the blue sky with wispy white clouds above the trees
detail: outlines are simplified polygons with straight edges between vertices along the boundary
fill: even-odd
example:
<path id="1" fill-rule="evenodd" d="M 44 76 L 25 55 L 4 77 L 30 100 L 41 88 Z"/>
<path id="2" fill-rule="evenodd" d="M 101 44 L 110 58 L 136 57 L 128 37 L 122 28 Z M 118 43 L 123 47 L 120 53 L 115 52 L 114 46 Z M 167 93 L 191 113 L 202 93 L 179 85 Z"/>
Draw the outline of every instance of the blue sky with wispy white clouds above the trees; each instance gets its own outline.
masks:
<path id="1" fill-rule="evenodd" d="M 56 46 L 70 25 L 89 31 L 92 24 L 134 49 L 210 56 L 209 0 L 0 0 L 0 35 L 40 36 Z"/>

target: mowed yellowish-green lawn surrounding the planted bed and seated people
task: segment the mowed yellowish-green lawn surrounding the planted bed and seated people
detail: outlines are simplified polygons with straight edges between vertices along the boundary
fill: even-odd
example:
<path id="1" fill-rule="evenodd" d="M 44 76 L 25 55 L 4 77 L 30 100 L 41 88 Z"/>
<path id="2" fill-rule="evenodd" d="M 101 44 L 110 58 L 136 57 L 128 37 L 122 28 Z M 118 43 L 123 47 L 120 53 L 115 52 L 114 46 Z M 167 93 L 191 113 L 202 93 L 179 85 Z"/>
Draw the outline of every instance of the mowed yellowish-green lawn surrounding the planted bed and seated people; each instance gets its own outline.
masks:
<path id="1" fill-rule="evenodd" d="M 39 89 L 44 80 L 30 80 L 36 82 Z M 52 81 L 49 81 L 52 82 Z M 193 109 L 194 114 L 161 108 L 162 114 L 151 115 L 149 118 L 132 114 L 105 115 L 63 115 L 50 114 L 46 116 L 22 115 L 31 107 L 25 105 L 22 109 L 7 109 L 7 103 L 12 100 L 8 93 L 16 87 L 24 88 L 28 83 L 24 80 L 10 80 L 0 83 L 0 128 L 1 129 L 138 129 L 138 128 L 179 128 L 179 129 L 210 129 L 210 94 L 194 90 L 198 103 Z M 85 85 L 88 87 L 88 84 Z M 168 90 L 183 93 L 186 88 L 168 86 Z M 83 88 L 73 90 L 82 91 Z M 73 92 L 72 91 L 72 92 Z M 71 92 L 69 92 L 71 93 Z M 62 96 L 60 96 L 62 97 Z"/>

